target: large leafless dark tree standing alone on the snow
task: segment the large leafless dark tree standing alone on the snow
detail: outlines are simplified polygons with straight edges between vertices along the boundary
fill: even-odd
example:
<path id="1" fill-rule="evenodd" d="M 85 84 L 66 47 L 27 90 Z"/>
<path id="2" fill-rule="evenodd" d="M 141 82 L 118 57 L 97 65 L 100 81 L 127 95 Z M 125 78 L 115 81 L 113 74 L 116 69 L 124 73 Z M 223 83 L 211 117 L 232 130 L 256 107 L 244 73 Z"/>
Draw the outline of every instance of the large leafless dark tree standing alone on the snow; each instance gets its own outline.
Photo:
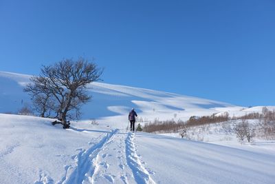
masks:
<path id="1" fill-rule="evenodd" d="M 24 89 L 32 96 L 36 111 L 55 112 L 63 127 L 69 127 L 68 119 L 78 119 L 81 105 L 91 96 L 87 94 L 87 85 L 100 80 L 102 69 L 95 63 L 80 57 L 77 61 L 64 59 L 54 65 L 43 66 L 39 76 L 32 76 Z"/>

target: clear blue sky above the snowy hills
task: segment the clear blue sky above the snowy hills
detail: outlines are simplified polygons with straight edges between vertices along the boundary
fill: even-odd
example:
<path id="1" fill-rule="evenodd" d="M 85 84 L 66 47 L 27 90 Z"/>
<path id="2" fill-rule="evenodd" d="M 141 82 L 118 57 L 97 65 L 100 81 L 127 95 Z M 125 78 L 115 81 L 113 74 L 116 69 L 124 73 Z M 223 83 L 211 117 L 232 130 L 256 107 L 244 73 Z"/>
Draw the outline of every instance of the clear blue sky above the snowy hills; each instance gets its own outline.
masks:
<path id="1" fill-rule="evenodd" d="M 106 83 L 275 105 L 275 1 L 0 0 L 1 71 L 79 56 Z"/>

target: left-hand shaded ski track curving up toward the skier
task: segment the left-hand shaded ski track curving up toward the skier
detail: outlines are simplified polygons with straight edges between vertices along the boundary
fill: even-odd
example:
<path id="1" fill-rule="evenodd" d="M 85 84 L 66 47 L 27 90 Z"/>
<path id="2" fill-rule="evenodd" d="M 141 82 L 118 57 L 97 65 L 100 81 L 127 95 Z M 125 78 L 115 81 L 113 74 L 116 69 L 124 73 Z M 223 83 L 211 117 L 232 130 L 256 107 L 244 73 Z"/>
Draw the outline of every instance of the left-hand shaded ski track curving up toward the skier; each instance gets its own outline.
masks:
<path id="1" fill-rule="evenodd" d="M 117 130 L 113 130 L 108 133 L 107 136 L 104 136 L 103 139 L 100 140 L 99 143 L 90 147 L 88 150 L 83 150 L 78 154 L 78 163 L 72 174 L 63 181 L 63 183 L 86 183 L 89 181 L 94 174 L 95 166 L 94 160 L 98 156 L 98 152 L 102 149 L 102 147 L 111 139 L 114 134 L 118 133 Z M 88 182 L 89 183 L 89 182 Z"/>

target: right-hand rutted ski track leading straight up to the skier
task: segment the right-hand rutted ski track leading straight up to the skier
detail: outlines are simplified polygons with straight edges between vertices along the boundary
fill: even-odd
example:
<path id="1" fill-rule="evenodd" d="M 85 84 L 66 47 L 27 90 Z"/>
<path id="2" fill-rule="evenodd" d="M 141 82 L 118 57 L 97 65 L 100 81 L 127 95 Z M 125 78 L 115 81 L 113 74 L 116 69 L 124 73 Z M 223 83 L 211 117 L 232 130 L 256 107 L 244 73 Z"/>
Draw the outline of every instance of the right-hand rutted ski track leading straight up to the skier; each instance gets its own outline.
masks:
<path id="1" fill-rule="evenodd" d="M 134 134 L 129 132 L 125 139 L 126 161 L 133 172 L 136 183 L 155 183 L 148 170 L 142 165 L 135 150 Z"/>

